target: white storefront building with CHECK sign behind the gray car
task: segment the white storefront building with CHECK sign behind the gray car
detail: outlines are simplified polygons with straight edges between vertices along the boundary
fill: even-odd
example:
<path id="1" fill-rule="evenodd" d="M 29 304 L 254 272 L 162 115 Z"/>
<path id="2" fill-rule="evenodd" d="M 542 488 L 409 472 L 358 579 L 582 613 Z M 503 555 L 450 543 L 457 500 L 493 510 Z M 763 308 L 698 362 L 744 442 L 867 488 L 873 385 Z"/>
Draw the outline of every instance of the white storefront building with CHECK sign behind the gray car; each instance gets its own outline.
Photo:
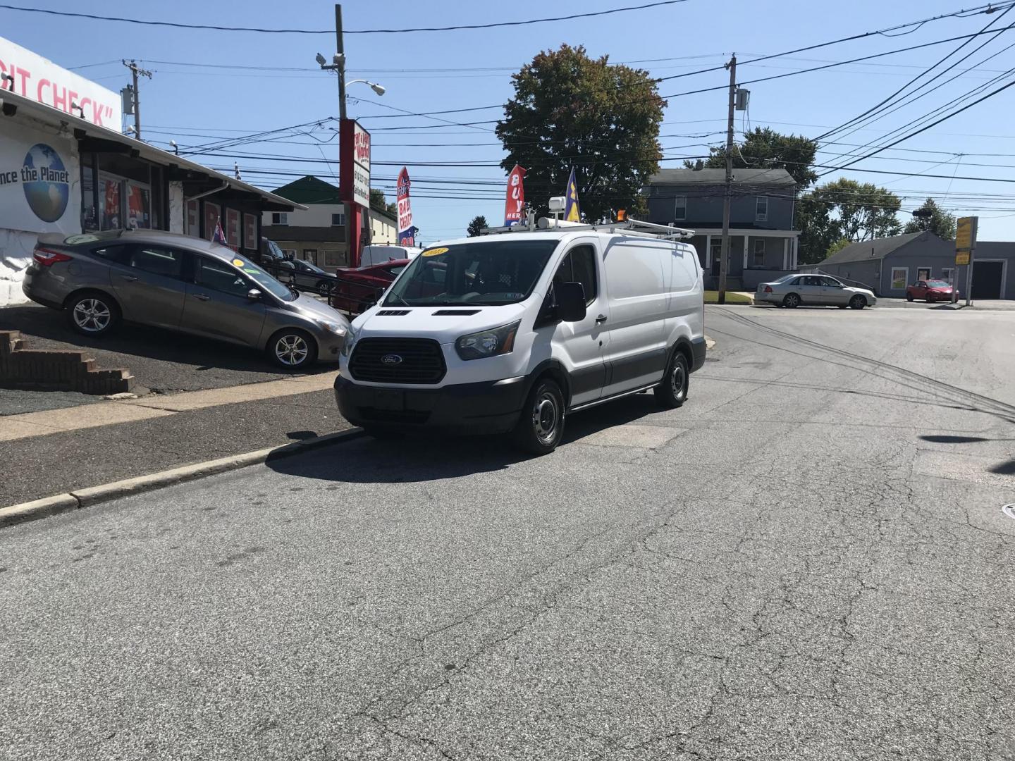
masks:
<path id="1" fill-rule="evenodd" d="M 10 73 L 12 72 L 12 73 Z M 0 39 L 0 306 L 25 300 L 39 234 L 162 229 L 260 250 L 265 212 L 303 208 L 118 131 L 119 95 Z"/>

